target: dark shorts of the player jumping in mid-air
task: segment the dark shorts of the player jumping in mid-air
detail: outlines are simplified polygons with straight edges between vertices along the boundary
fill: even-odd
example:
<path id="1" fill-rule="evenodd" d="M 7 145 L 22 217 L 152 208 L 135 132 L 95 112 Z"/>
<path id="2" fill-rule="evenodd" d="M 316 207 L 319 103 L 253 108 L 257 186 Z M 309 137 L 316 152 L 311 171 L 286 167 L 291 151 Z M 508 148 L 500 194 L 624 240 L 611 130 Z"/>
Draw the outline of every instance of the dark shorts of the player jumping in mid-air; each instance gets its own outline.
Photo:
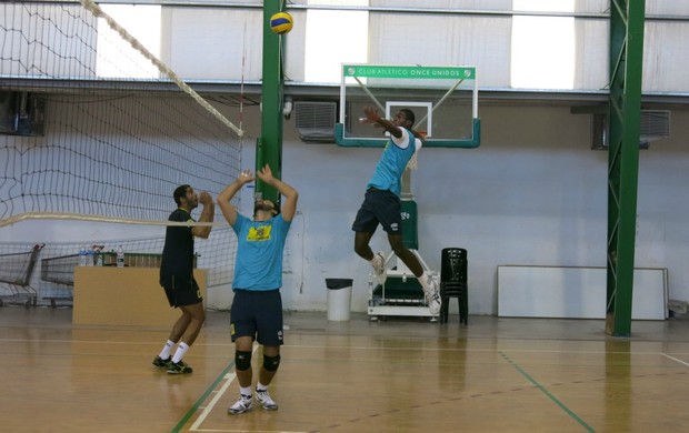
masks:
<path id="1" fill-rule="evenodd" d="M 375 233 L 378 224 L 389 234 L 402 234 L 402 204 L 390 190 L 369 188 L 351 230 Z"/>

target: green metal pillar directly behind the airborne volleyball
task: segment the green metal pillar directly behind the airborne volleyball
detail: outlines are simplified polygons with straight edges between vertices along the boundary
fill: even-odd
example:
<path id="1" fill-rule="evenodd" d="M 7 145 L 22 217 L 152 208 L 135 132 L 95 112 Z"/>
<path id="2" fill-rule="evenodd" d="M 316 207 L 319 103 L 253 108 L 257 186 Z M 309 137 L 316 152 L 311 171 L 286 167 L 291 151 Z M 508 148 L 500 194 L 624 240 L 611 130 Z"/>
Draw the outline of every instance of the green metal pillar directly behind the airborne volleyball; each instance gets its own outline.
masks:
<path id="1" fill-rule="evenodd" d="M 283 0 L 263 2 L 263 79 L 261 95 L 261 137 L 256 141 L 256 170 L 270 165 L 272 174 L 282 179 L 282 36 L 270 29 L 270 17 L 282 12 Z M 263 199 L 280 201 L 278 191 L 256 181 L 256 192 Z"/>

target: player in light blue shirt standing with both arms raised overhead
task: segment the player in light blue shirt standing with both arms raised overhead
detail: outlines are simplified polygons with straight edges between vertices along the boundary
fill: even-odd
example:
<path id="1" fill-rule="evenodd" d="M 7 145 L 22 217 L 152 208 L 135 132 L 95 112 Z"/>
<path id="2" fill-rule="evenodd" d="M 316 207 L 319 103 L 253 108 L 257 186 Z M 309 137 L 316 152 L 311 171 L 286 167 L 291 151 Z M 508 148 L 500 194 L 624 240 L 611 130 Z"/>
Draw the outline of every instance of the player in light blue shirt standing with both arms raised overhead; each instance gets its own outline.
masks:
<path id="1" fill-rule="evenodd" d="M 256 200 L 253 219 L 240 214 L 230 200 L 254 180 L 249 170 L 218 195 L 218 205 L 237 234 L 237 259 L 230 308 L 230 333 L 234 342 L 234 367 L 239 400 L 228 409 L 238 415 L 252 407 L 251 352 L 253 340 L 263 346 L 263 363 L 256 385 L 256 400 L 264 410 L 278 409 L 268 385 L 280 365 L 282 339 L 282 253 L 290 224 L 297 213 L 297 190 L 272 177 L 266 164 L 257 173 L 266 184 L 284 197 L 282 210 L 271 200 Z"/>

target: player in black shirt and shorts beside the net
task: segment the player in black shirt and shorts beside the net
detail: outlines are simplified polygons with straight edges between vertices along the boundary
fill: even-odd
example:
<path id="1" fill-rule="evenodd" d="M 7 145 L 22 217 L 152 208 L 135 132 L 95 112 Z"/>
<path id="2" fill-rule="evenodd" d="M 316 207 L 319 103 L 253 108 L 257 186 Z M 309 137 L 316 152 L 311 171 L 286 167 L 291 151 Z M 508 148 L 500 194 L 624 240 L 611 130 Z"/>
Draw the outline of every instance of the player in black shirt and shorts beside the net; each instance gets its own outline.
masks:
<path id="1" fill-rule="evenodd" d="M 216 208 L 208 192 L 197 194 L 190 185 L 180 185 L 174 190 L 173 198 L 179 208 L 170 213 L 168 221 L 196 222 L 191 218 L 191 211 L 199 205 L 199 202 L 203 204 L 199 222 L 213 221 Z M 179 308 L 182 315 L 172 326 L 172 332 L 160 354 L 153 360 L 153 365 L 167 369 L 170 374 L 192 372 L 182 358 L 193 344 L 206 321 L 201 291 L 193 279 L 193 239 L 196 236 L 207 239 L 210 229 L 210 225 L 169 225 L 166 229 L 160 285 L 166 291 L 170 306 Z M 178 342 L 177 351 L 172 355 L 172 349 Z"/>

